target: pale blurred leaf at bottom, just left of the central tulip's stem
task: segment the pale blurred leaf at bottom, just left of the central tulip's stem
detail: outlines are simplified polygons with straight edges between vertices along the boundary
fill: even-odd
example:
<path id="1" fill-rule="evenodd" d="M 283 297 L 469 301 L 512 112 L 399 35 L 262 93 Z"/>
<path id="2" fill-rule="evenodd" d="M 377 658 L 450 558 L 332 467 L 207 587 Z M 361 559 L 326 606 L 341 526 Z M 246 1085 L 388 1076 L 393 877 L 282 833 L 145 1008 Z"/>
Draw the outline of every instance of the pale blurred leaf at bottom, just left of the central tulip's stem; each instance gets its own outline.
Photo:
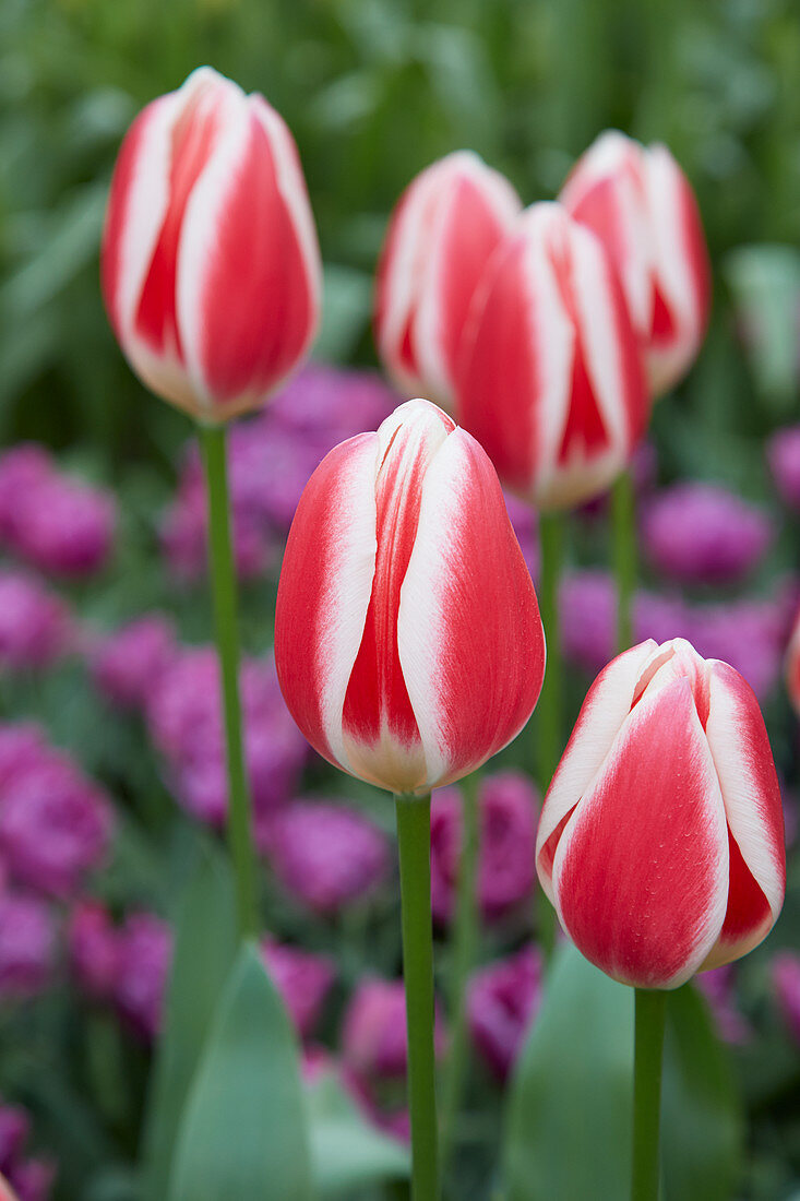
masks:
<path id="1" fill-rule="evenodd" d="M 314 1179 L 324 1197 L 408 1176 L 408 1151 L 368 1125 L 333 1075 L 306 1089 Z"/>

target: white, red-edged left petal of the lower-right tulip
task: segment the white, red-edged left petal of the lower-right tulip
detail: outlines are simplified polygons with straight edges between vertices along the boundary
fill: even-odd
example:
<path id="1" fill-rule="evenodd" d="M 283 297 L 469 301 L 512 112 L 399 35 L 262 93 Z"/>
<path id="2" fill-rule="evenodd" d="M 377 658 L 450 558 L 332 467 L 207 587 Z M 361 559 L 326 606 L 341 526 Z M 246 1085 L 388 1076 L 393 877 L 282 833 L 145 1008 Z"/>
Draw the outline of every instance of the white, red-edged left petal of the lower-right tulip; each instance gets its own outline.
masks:
<path id="1" fill-rule="evenodd" d="M 561 832 L 559 826 L 603 766 L 631 711 L 641 671 L 657 651 L 657 644 L 649 639 L 617 655 L 586 693 L 567 749 L 544 799 L 536 836 L 536 866 L 550 901 L 554 901 L 553 860 L 559 841 L 553 836 Z"/>

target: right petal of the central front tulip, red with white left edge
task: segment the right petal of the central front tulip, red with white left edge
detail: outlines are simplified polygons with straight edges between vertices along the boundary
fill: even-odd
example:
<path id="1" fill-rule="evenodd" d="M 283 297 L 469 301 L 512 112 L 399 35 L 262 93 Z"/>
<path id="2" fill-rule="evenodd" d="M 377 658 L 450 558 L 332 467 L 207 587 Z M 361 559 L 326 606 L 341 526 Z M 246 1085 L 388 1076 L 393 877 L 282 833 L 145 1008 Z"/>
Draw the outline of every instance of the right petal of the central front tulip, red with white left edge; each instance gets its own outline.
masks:
<path id="1" fill-rule="evenodd" d="M 465 775 L 506 746 L 539 695 L 544 637 L 533 585 L 495 471 L 460 429 L 425 476 L 398 646 L 425 753 L 425 788 Z"/>

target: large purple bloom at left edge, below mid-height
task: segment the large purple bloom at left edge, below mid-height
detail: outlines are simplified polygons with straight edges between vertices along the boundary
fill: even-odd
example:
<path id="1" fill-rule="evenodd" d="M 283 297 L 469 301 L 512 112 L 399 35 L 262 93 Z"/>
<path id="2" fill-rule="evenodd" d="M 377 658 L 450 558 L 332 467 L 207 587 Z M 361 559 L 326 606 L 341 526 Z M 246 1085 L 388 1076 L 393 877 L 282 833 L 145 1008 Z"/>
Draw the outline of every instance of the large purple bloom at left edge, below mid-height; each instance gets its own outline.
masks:
<path id="1" fill-rule="evenodd" d="M 11 877 L 65 898 L 102 861 L 111 808 L 65 754 L 46 747 L 38 761 L 0 788 L 0 849 Z"/>

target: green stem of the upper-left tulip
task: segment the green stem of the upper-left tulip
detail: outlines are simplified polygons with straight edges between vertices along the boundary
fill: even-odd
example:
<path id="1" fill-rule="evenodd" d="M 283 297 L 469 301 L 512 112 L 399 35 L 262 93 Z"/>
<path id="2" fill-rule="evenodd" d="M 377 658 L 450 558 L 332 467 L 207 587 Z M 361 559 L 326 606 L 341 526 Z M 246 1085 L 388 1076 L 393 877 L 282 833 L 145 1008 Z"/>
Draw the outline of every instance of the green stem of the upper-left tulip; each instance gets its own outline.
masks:
<path id="1" fill-rule="evenodd" d="M 208 492 L 209 570 L 225 713 L 228 846 L 235 873 L 239 934 L 246 938 L 258 933 L 256 854 L 252 841 L 250 787 L 241 741 L 237 576 L 231 544 L 225 426 L 201 425 L 199 440 Z"/>

